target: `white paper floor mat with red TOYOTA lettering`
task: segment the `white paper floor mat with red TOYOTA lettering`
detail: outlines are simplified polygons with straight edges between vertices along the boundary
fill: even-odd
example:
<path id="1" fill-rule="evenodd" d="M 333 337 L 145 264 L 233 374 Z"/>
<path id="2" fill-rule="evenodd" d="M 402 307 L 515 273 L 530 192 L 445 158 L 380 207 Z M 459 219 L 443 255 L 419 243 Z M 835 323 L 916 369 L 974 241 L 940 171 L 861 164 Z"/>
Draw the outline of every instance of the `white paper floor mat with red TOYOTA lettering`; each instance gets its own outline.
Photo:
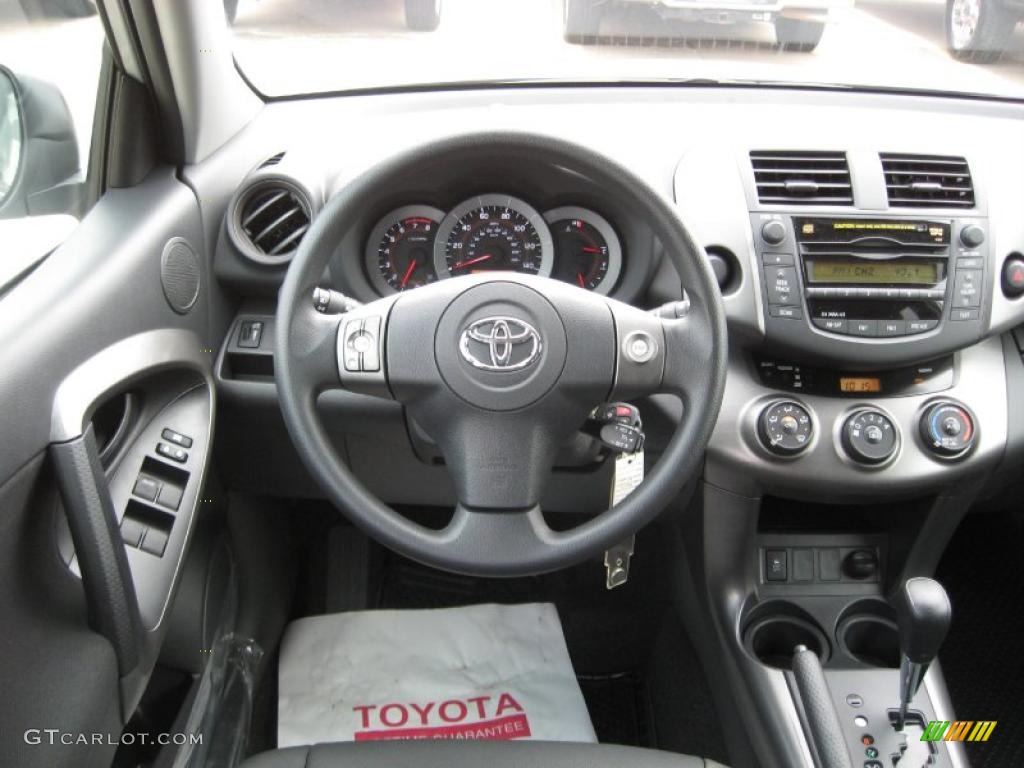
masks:
<path id="1" fill-rule="evenodd" d="M 549 603 L 294 622 L 278 745 L 394 738 L 596 741 Z"/>

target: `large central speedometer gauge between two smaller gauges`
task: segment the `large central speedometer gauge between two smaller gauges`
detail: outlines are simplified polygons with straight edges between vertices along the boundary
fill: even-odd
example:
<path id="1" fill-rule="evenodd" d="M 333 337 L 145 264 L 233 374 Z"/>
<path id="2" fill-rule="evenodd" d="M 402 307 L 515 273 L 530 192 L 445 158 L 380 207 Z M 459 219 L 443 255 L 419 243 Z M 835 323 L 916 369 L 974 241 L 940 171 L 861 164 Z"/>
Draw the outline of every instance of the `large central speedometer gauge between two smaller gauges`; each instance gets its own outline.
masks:
<path id="1" fill-rule="evenodd" d="M 547 278 L 553 264 L 544 218 L 507 195 L 481 195 L 456 206 L 434 242 L 434 266 L 441 276 L 514 271 Z"/>

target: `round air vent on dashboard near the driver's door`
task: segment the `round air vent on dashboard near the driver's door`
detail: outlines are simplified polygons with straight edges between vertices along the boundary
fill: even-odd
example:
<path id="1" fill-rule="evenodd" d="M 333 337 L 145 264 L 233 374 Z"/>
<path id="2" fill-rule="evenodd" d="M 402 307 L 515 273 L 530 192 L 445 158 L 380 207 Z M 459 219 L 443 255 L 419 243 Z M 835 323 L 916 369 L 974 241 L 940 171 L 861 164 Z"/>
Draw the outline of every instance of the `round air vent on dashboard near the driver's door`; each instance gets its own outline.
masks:
<path id="1" fill-rule="evenodd" d="M 263 179 L 236 198 L 231 238 L 246 256 L 263 264 L 289 261 L 309 228 L 309 201 L 281 178 Z"/>

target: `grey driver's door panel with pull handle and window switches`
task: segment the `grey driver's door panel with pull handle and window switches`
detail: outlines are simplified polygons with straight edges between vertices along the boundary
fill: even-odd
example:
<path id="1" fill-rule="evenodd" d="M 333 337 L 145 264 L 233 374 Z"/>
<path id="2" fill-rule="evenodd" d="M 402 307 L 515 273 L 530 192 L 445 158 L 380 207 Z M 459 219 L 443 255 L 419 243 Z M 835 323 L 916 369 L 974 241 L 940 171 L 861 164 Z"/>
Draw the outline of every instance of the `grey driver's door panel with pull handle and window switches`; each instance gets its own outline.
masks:
<path id="1" fill-rule="evenodd" d="M 199 281 L 188 309 L 180 285 L 162 281 L 174 239 L 190 248 L 188 280 Z M 181 263 L 170 270 L 178 278 Z M 25 733 L 117 734 L 152 671 L 212 439 L 211 340 L 223 329 L 210 327 L 209 276 L 199 203 L 164 168 L 108 191 L 70 240 L 0 296 L 2 765 L 109 764 L 111 739 L 50 744 L 43 732 L 31 743 Z M 101 465 L 90 420 L 129 389 L 137 407 L 127 436 Z M 158 452 L 165 429 L 189 432 L 186 458 Z M 156 484 L 137 485 L 140 474 Z M 69 536 L 66 515 L 76 509 L 91 524 Z M 133 547 L 123 543 L 126 510 L 144 531 Z M 71 540 L 105 554 L 90 564 Z M 120 630 L 100 615 L 112 594 L 124 598 L 113 611 Z"/>

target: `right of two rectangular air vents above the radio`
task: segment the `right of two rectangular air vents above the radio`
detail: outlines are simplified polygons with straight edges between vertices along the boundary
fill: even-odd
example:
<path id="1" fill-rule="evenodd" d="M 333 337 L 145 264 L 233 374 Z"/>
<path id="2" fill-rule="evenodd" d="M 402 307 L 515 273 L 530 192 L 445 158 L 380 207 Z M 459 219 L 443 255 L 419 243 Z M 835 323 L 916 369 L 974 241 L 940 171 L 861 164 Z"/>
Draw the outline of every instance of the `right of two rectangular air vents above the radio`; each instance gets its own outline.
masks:
<path id="1" fill-rule="evenodd" d="M 964 158 L 881 155 L 894 208 L 973 208 L 974 184 Z"/>

